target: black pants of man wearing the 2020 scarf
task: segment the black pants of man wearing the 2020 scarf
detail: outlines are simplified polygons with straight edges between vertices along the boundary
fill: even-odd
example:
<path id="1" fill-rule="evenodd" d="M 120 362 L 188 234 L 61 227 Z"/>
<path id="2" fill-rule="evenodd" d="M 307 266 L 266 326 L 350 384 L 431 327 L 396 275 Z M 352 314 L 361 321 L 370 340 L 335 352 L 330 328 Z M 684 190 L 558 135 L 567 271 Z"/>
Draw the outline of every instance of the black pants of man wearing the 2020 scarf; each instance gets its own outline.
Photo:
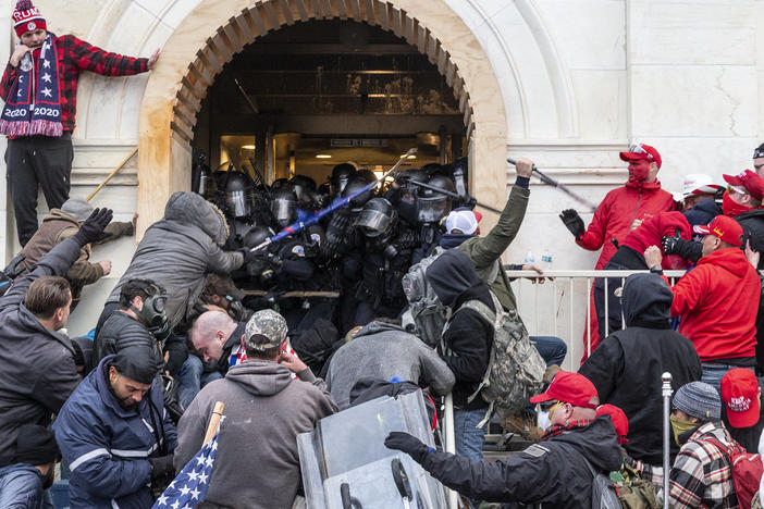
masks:
<path id="1" fill-rule="evenodd" d="M 8 140 L 8 184 L 22 246 L 37 232 L 37 186 L 42 187 L 48 209 L 61 208 L 69 199 L 73 159 L 70 132 L 60 138 L 28 136 Z"/>

